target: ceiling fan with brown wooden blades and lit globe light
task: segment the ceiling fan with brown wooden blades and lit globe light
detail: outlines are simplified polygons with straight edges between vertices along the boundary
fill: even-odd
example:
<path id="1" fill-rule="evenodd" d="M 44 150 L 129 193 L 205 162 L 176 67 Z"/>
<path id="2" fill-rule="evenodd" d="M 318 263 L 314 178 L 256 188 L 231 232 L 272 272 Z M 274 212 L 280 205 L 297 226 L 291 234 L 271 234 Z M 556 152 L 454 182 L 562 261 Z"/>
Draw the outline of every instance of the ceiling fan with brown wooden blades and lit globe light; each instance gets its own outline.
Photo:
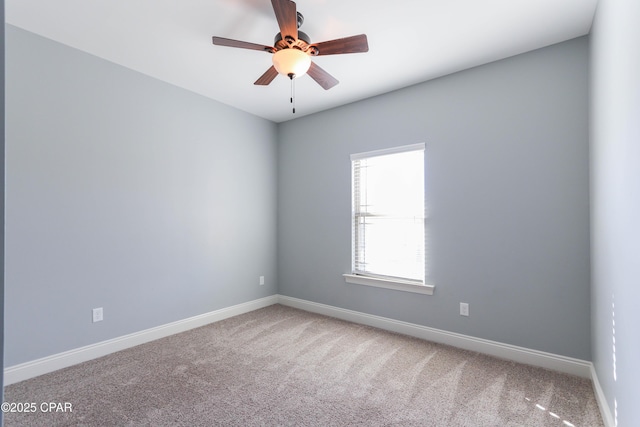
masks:
<path id="1" fill-rule="evenodd" d="M 276 34 L 274 40 L 274 46 L 248 43 L 224 37 L 213 37 L 213 44 L 218 46 L 261 50 L 273 54 L 273 65 L 255 81 L 254 84 L 256 85 L 266 86 L 278 74 L 285 75 L 293 81 L 294 78 L 306 73 L 325 90 L 328 90 L 337 85 L 338 80 L 311 61 L 312 56 L 369 51 L 365 34 L 311 43 L 309 36 L 298 30 L 304 21 L 304 17 L 296 10 L 294 2 L 290 0 L 271 0 L 271 5 L 280 27 L 280 32 Z"/>

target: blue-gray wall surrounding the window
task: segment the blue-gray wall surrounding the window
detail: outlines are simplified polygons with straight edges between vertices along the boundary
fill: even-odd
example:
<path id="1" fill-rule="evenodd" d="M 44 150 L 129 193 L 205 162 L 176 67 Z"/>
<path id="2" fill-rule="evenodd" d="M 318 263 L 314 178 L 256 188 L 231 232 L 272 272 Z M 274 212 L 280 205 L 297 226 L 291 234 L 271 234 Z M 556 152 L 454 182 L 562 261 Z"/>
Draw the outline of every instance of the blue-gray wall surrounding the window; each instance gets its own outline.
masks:
<path id="1" fill-rule="evenodd" d="M 590 360 L 587 67 L 583 37 L 281 124 L 279 293 Z M 349 154 L 417 142 L 435 294 L 346 284 Z"/>

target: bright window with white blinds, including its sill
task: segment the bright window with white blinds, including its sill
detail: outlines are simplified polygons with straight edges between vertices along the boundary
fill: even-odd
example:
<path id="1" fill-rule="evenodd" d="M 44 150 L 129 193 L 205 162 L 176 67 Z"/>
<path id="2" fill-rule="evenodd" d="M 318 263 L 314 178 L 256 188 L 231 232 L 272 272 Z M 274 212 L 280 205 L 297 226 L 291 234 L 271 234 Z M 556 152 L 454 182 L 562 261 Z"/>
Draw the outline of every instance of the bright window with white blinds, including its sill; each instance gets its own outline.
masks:
<path id="1" fill-rule="evenodd" d="M 424 144 L 353 154 L 351 166 L 346 281 L 433 293 L 425 285 Z"/>

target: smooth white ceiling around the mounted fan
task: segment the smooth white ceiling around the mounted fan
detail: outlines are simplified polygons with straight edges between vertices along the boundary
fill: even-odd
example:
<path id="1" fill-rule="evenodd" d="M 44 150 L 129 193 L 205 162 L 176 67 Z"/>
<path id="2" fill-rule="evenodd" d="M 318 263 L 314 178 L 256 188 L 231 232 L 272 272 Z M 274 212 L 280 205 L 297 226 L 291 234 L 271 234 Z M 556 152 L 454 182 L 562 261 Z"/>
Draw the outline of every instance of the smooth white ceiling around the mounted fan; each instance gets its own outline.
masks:
<path id="1" fill-rule="evenodd" d="M 369 52 L 313 60 L 309 76 L 253 82 L 269 53 L 211 36 L 273 45 L 269 0 L 6 0 L 8 23 L 260 117 L 282 122 L 588 34 L 597 0 L 298 0 L 312 42 L 367 34 Z"/>

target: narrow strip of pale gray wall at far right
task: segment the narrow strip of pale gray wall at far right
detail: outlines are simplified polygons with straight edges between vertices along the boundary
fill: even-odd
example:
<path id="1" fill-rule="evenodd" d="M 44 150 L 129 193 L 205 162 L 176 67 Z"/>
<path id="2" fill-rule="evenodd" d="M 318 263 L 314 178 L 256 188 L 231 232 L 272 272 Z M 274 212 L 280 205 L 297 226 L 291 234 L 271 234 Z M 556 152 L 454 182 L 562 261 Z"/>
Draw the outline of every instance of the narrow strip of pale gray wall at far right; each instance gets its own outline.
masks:
<path id="1" fill-rule="evenodd" d="M 640 426 L 640 2 L 600 0 L 591 47 L 593 362 Z"/>

